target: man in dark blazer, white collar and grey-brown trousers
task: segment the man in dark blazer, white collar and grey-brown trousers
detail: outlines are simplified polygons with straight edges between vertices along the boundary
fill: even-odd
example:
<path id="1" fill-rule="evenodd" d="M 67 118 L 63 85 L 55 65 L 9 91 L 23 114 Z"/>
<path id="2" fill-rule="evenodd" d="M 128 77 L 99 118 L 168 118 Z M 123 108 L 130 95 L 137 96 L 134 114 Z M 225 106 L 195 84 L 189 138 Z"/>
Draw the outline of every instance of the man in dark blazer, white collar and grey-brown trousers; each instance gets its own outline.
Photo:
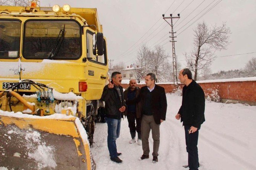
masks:
<path id="1" fill-rule="evenodd" d="M 141 140 L 143 155 L 140 160 L 149 158 L 149 133 L 152 130 L 153 163 L 158 162 L 158 149 L 160 144 L 160 123 L 165 120 L 167 111 L 167 100 L 165 90 L 155 84 L 156 75 L 147 74 L 145 77 L 146 86 L 141 88 L 139 93 L 139 112 L 141 114 Z"/>

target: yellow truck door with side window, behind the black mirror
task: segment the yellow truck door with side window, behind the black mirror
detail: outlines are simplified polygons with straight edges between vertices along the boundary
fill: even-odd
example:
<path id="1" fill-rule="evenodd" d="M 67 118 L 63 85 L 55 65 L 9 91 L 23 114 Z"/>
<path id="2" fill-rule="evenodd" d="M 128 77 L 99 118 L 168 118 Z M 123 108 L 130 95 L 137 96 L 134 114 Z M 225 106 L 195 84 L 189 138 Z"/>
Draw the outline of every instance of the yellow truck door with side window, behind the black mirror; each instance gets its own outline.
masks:
<path id="1" fill-rule="evenodd" d="M 86 31 L 86 53 L 87 53 L 87 93 L 86 99 L 93 100 L 101 97 L 105 82 L 107 80 L 108 64 L 106 42 L 104 40 L 104 54 L 102 56 L 95 56 L 92 52 L 93 32 Z"/>

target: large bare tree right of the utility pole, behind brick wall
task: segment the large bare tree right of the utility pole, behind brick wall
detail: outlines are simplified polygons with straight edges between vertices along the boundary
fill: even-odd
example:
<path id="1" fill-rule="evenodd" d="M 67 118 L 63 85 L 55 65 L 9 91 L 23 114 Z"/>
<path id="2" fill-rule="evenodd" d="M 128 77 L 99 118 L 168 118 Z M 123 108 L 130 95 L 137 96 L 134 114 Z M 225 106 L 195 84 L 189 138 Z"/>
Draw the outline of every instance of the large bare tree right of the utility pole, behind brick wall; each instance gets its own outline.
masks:
<path id="1" fill-rule="evenodd" d="M 211 29 L 203 21 L 194 29 L 194 48 L 190 54 L 185 53 L 188 67 L 194 72 L 194 80 L 202 72 L 209 69 L 214 60 L 215 50 L 223 50 L 227 47 L 230 37 L 230 29 L 225 23 L 221 26 L 214 25 Z"/>

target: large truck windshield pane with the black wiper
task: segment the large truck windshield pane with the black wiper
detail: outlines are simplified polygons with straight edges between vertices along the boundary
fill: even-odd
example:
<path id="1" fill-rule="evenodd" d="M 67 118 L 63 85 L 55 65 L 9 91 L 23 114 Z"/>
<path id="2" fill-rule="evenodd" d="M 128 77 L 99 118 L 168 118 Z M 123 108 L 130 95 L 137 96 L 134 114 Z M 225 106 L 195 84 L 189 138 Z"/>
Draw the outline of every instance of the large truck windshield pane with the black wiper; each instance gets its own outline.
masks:
<path id="1" fill-rule="evenodd" d="M 23 56 L 26 59 L 78 59 L 81 56 L 80 27 L 75 21 L 29 20 L 24 29 Z M 63 31 L 61 42 L 60 30 Z M 55 49 L 58 52 L 52 58 Z"/>

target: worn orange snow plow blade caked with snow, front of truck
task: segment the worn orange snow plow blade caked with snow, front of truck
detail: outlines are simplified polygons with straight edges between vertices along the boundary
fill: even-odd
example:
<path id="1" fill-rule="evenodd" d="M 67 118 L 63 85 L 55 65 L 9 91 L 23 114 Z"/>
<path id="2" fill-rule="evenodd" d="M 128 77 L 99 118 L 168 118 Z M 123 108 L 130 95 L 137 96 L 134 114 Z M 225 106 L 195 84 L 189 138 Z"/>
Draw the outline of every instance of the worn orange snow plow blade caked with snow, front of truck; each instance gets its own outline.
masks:
<path id="1" fill-rule="evenodd" d="M 0 111 L 1 167 L 94 169 L 86 132 L 81 127 L 78 118 L 62 114 L 39 117 Z"/>

